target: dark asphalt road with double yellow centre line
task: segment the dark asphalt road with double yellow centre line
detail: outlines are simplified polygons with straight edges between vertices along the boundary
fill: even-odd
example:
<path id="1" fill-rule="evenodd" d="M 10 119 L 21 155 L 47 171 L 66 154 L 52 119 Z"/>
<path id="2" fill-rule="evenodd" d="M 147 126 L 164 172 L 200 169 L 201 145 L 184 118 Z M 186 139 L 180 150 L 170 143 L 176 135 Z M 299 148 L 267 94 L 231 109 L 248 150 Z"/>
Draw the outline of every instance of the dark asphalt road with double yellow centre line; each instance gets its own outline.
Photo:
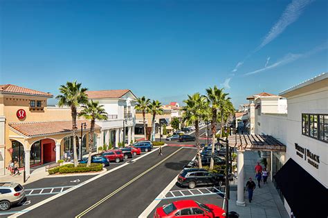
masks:
<path id="1" fill-rule="evenodd" d="M 176 152 L 179 150 L 178 152 Z M 176 154 L 163 161 L 173 152 Z M 87 208 L 84 217 L 138 217 L 156 196 L 176 177 L 183 165 L 194 157 L 190 148 L 164 147 L 163 156 L 157 152 L 139 159 L 119 170 L 110 172 L 89 184 L 77 188 L 62 197 L 54 199 L 21 217 L 75 217 Z M 163 163 L 158 164 L 163 161 Z M 149 168 L 153 168 L 149 170 Z M 149 170 L 149 172 L 146 172 Z M 164 172 L 164 173 L 163 173 Z M 140 176 L 141 175 L 141 176 Z M 140 176 L 140 178 L 135 179 Z M 122 188 L 122 186 L 125 186 Z M 113 194 L 115 193 L 115 194 Z M 110 195 L 111 194 L 111 195 Z M 102 201 L 101 204 L 98 202 Z M 98 203 L 98 204 L 97 204 Z"/>

